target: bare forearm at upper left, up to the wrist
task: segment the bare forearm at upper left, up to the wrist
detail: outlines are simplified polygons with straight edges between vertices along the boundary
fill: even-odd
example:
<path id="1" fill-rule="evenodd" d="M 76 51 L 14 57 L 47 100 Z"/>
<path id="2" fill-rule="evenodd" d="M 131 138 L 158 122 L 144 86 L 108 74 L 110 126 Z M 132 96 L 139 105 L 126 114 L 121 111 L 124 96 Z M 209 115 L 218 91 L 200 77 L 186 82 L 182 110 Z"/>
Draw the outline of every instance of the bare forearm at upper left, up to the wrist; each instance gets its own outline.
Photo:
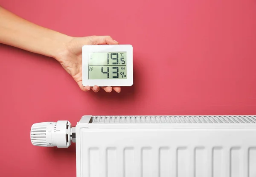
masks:
<path id="1" fill-rule="evenodd" d="M 55 58 L 70 39 L 0 7 L 0 43 Z"/>

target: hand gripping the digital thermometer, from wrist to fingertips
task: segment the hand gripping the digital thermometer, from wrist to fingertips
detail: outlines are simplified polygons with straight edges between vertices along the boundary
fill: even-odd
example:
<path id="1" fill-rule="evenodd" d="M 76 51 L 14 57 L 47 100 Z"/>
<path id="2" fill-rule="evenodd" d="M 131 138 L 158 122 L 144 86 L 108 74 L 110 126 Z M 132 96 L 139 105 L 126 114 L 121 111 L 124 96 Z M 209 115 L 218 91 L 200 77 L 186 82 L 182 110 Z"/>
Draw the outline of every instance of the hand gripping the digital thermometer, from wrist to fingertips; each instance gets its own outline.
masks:
<path id="1" fill-rule="evenodd" d="M 55 59 L 60 62 L 61 66 L 69 73 L 81 90 L 88 91 L 92 89 L 94 92 L 99 91 L 99 86 L 83 86 L 82 84 L 82 46 L 83 45 L 103 45 L 103 44 L 119 44 L 110 36 L 90 36 L 90 37 L 70 37 L 64 48 L 62 48 Z M 112 87 L 102 87 L 106 92 L 111 92 Z M 113 87 L 117 93 L 121 91 L 120 87 Z"/>

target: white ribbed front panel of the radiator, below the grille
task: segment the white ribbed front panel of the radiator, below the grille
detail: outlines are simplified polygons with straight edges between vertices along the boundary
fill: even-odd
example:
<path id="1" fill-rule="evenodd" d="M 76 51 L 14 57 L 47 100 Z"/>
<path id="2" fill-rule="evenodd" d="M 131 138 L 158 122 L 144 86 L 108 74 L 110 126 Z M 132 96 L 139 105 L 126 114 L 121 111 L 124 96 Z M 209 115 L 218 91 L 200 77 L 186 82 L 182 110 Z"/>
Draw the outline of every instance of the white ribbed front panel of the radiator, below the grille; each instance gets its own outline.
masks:
<path id="1" fill-rule="evenodd" d="M 255 177 L 255 129 L 81 129 L 82 177 Z M 77 153 L 79 153 L 77 152 Z"/>

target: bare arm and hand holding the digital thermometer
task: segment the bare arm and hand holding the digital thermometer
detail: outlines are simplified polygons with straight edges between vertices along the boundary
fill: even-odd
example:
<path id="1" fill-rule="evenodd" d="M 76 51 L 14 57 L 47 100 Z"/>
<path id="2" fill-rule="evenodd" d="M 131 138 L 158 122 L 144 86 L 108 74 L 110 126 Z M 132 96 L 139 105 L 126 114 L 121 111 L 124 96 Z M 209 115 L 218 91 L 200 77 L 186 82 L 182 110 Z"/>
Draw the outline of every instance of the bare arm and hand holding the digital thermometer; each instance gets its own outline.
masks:
<path id="1" fill-rule="evenodd" d="M 118 44 L 109 36 L 70 37 L 29 22 L 0 7 L 0 43 L 55 58 L 73 77 L 81 90 L 99 91 L 98 86 L 82 85 L 82 46 Z M 111 92 L 112 87 L 102 87 Z M 113 87 L 120 92 L 120 87 Z"/>

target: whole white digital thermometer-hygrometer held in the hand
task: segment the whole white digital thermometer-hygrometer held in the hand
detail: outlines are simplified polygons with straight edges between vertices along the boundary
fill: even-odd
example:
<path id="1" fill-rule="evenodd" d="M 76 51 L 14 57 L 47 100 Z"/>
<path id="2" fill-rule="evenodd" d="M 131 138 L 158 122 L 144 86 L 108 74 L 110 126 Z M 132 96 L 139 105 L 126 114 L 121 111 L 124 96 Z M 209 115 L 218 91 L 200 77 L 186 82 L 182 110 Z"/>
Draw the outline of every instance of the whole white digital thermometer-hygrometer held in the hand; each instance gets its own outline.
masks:
<path id="1" fill-rule="evenodd" d="M 133 85 L 132 46 L 84 45 L 82 83 L 91 87 Z"/>

